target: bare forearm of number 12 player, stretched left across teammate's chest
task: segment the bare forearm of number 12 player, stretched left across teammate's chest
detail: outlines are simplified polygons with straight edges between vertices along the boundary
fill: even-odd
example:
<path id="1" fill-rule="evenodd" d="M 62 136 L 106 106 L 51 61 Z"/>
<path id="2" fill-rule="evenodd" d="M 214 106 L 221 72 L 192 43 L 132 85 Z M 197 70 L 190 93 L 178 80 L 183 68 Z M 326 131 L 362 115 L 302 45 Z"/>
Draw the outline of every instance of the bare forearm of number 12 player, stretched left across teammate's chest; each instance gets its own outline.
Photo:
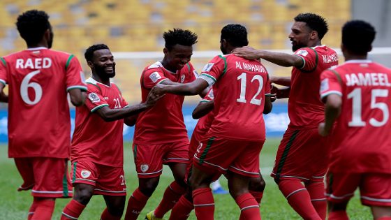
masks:
<path id="1" fill-rule="evenodd" d="M 156 85 L 158 91 L 161 93 L 171 93 L 183 96 L 195 96 L 197 94 L 201 94 L 208 86 L 207 81 L 201 78 L 198 78 L 193 82 L 180 85 Z"/>

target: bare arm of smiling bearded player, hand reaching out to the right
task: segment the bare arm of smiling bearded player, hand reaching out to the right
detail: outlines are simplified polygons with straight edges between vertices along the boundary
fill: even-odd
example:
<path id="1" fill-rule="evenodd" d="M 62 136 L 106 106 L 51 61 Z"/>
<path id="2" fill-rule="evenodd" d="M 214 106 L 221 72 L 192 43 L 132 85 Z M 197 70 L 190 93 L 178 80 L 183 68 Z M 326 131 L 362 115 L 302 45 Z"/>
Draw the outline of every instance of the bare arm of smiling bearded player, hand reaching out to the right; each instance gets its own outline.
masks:
<path id="1" fill-rule="evenodd" d="M 156 104 L 156 101 L 158 101 L 163 96 L 164 94 L 158 94 L 158 90 L 152 88 L 151 91 L 149 91 L 147 101 L 145 101 L 145 103 L 119 109 L 111 109 L 108 106 L 104 106 L 103 108 L 96 110 L 96 113 L 103 120 L 105 120 L 105 122 L 113 122 L 118 119 L 124 119 L 132 115 L 137 115 L 138 113 L 147 110 L 148 108 L 152 108 L 152 106 Z M 129 122 L 129 124 L 131 124 L 131 122 Z"/>

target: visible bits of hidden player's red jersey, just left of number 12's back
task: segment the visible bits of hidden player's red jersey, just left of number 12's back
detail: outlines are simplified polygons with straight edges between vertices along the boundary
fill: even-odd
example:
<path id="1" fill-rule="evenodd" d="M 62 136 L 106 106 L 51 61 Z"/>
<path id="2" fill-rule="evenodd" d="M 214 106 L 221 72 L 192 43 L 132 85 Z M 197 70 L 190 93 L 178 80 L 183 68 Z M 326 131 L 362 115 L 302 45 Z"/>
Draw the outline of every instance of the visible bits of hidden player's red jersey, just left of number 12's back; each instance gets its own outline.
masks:
<path id="1" fill-rule="evenodd" d="M 214 99 L 213 89 L 211 88 L 207 92 L 207 95 L 204 98 L 202 98 L 202 100 L 200 102 L 209 102 L 209 101 L 212 101 L 213 99 Z M 202 136 L 205 135 L 205 133 L 207 133 L 207 131 L 209 131 L 210 126 L 212 125 L 213 119 L 214 119 L 213 111 L 208 112 L 207 115 L 204 115 L 203 117 L 198 119 L 198 122 L 195 125 L 194 131 L 192 134 L 192 135 L 194 135 L 195 139 L 201 140 Z"/>

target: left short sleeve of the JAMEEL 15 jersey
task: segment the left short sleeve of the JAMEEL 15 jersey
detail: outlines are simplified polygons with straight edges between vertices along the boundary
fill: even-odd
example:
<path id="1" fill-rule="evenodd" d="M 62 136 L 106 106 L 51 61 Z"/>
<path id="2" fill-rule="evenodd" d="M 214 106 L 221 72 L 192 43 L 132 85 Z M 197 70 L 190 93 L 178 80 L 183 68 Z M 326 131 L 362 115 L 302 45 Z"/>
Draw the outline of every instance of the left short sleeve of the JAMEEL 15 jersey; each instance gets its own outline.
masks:
<path id="1" fill-rule="evenodd" d="M 330 94 L 342 96 L 341 78 L 334 70 L 323 71 L 320 75 L 320 98 L 323 99 Z"/>

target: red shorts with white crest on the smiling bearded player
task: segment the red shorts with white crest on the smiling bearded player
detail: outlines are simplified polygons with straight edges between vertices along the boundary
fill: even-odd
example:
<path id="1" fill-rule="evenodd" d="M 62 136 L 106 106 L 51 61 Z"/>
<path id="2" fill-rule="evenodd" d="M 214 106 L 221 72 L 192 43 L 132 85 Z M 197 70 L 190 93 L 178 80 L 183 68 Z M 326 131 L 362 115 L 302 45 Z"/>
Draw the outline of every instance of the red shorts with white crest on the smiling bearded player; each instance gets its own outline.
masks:
<path id="1" fill-rule="evenodd" d="M 72 184 L 95 186 L 94 194 L 108 196 L 126 196 L 124 169 L 103 166 L 91 161 L 72 163 Z"/>

